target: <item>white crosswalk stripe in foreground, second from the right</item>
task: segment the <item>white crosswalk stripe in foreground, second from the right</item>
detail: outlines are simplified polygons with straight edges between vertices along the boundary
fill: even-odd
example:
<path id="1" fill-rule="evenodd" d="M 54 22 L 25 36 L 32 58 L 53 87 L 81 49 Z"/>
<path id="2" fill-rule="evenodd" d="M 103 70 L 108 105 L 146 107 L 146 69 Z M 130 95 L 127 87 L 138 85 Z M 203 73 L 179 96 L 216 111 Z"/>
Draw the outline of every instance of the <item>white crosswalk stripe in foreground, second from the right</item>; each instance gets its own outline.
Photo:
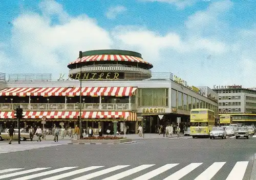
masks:
<path id="1" fill-rule="evenodd" d="M 222 166 L 224 166 L 225 163 L 226 162 L 216 162 L 210 165 L 210 167 L 208 167 L 194 180 L 210 180 L 222 168 Z"/>

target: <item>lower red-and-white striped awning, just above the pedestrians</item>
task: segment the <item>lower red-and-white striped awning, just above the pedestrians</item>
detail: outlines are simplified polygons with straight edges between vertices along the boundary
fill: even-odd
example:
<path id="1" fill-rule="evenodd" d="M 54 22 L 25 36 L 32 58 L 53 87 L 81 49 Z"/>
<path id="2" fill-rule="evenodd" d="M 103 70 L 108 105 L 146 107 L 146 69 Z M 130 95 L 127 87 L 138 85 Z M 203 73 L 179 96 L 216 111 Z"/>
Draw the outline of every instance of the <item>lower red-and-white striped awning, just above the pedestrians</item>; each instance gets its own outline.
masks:
<path id="1" fill-rule="evenodd" d="M 77 111 L 25 111 L 23 112 L 24 119 L 41 119 L 45 117 L 46 119 L 76 119 L 79 116 Z M 82 119 L 109 119 L 109 118 L 121 118 L 127 119 L 130 116 L 130 112 L 82 112 Z M 13 119 L 14 112 L 0 112 L 0 119 Z"/>

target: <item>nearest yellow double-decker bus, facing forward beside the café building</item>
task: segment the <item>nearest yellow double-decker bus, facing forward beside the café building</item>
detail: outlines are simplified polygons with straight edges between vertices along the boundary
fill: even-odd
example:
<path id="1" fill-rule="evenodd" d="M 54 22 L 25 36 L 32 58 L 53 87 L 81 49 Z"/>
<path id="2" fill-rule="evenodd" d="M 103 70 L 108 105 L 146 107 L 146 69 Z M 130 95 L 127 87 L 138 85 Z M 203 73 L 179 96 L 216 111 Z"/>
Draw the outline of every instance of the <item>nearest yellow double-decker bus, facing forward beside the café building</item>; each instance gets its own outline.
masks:
<path id="1" fill-rule="evenodd" d="M 191 109 L 190 135 L 195 137 L 210 136 L 212 127 L 215 126 L 214 111 L 209 109 Z"/>

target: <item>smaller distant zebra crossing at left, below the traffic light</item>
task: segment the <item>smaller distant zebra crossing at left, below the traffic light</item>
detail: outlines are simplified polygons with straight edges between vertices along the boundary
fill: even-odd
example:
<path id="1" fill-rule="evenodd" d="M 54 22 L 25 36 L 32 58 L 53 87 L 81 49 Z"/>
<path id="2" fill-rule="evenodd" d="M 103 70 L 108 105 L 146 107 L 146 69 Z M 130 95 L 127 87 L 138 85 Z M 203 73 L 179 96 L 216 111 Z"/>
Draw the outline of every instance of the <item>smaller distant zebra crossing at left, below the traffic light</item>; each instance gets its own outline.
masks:
<path id="1" fill-rule="evenodd" d="M 0 154 L 1 153 L 9 153 L 9 152 L 17 152 L 24 151 L 30 149 L 39 149 L 44 147 L 57 146 L 60 144 L 0 144 Z"/>

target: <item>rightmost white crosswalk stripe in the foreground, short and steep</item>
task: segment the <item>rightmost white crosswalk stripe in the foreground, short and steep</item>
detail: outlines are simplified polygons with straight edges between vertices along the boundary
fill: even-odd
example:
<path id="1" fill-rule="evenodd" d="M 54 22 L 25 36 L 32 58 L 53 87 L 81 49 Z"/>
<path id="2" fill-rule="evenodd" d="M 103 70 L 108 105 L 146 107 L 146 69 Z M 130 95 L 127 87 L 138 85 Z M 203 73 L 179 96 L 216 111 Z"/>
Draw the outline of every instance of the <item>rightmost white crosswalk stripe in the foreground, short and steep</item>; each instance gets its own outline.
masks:
<path id="1" fill-rule="evenodd" d="M 229 175 L 227 176 L 226 180 L 243 180 L 248 163 L 248 161 L 237 162 L 236 165 L 234 165 L 231 172 L 229 173 Z"/>

